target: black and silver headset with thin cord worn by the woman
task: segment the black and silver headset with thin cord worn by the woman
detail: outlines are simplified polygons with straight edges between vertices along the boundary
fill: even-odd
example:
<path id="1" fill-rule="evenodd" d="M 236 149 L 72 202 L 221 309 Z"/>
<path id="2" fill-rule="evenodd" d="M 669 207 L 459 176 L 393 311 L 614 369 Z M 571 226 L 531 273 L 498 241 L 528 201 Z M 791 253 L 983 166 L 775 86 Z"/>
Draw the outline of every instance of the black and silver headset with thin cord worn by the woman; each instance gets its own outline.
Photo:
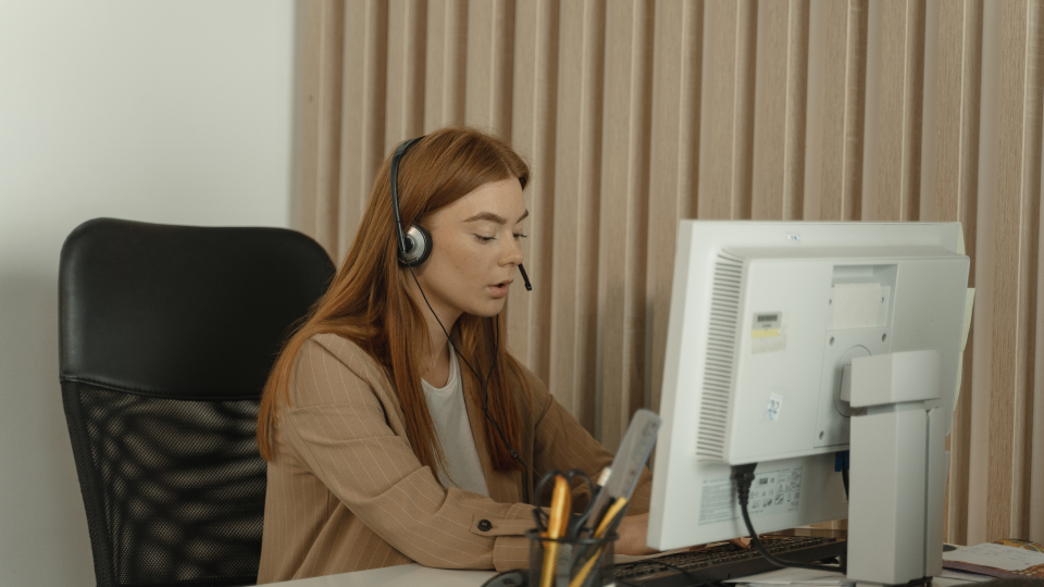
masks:
<path id="1" fill-rule="evenodd" d="M 421 297 L 424 298 L 424 303 L 427 304 L 427 309 L 432 311 L 432 315 L 434 315 L 435 321 L 438 322 L 438 326 L 443 329 L 443 334 L 445 334 L 446 339 L 449 340 L 449 346 L 452 347 L 453 352 L 457 353 L 457 357 L 460 357 L 460 360 L 468 365 L 468 370 L 471 371 L 476 379 L 478 379 L 478 385 L 482 386 L 482 411 L 486 415 L 486 420 L 493 424 L 493 428 L 497 432 L 497 436 L 500 437 L 504 446 L 508 448 L 508 452 L 511 454 L 511 458 L 522 465 L 522 471 L 524 472 L 522 494 L 525 502 L 530 503 L 530 469 L 525 466 L 525 463 L 522 461 L 522 457 L 519 455 L 519 451 L 514 450 L 514 447 L 512 447 L 511 442 L 508 441 L 508 437 L 504 435 L 504 430 L 500 429 L 500 425 L 497 424 L 497 421 L 494 420 L 493 414 L 489 413 L 489 379 L 493 377 L 493 370 L 497 366 L 498 353 L 494 353 L 493 364 L 489 365 L 489 371 L 486 373 L 486 378 L 483 379 L 482 376 L 478 375 L 478 372 L 471 366 L 471 363 L 464 359 L 464 355 L 460 353 L 460 351 L 457 349 L 457 345 L 453 345 L 453 339 L 446 330 L 446 326 L 443 325 L 443 321 L 438 320 L 438 315 L 435 314 L 435 309 L 433 309 L 431 302 L 427 301 L 427 296 L 424 295 L 424 289 L 421 287 L 421 283 L 417 279 L 417 274 L 413 273 L 413 267 L 420 265 L 424 261 L 427 261 L 427 258 L 431 257 L 434 243 L 432 242 L 432 234 L 418 223 L 413 223 L 409 230 L 402 230 L 402 215 L 399 212 L 399 163 L 406 155 L 406 151 L 408 151 L 414 142 L 421 140 L 422 138 L 424 137 L 421 136 L 412 138 L 402 142 L 395 149 L 395 153 L 391 155 L 391 170 L 389 179 L 391 182 L 391 212 L 395 215 L 395 229 L 396 235 L 398 236 L 398 250 L 396 251 L 396 255 L 398 257 L 399 264 L 410 270 L 410 275 L 413 276 L 413 283 L 417 284 L 417 288 L 420 290 Z M 525 290 L 532 291 L 533 286 L 530 285 L 530 278 L 526 276 L 525 270 L 522 267 L 522 263 L 519 263 L 519 272 L 522 274 L 522 280 L 525 283 Z M 499 349 L 499 320 L 496 322 L 496 346 L 497 349 Z"/>

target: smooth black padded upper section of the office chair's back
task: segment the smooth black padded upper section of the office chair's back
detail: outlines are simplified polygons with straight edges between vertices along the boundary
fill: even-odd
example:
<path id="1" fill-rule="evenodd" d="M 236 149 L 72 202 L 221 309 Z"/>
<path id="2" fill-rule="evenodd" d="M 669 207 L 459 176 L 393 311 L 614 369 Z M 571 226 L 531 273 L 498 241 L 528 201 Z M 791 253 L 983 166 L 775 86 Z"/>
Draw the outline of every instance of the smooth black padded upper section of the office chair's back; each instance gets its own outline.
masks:
<path id="1" fill-rule="evenodd" d="M 61 377 L 156 397 L 258 397 L 286 336 L 334 275 L 283 228 L 113 218 L 62 246 Z"/>

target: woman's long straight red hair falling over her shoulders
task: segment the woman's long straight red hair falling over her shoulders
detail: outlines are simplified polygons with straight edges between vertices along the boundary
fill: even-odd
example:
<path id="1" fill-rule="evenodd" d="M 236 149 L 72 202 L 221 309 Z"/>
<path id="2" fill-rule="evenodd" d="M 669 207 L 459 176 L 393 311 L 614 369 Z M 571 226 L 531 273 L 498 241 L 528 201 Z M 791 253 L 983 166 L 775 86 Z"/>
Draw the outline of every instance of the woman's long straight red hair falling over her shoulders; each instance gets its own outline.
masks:
<path id="1" fill-rule="evenodd" d="M 271 461 L 270 433 L 278 426 L 278 413 L 289 405 L 289 385 L 295 360 L 304 342 L 318 334 L 332 333 L 355 342 L 384 366 L 395 386 L 406 432 L 422 465 L 445 463 L 438 436 L 421 387 L 421 358 L 431 350 L 424 312 L 408 292 L 412 276 L 396 259 L 398 239 L 391 214 L 390 158 L 384 161 L 370 192 L 370 202 L 356 240 L 326 294 L 301 326 L 289 337 L 275 361 L 261 396 L 258 412 L 258 447 Z M 399 208 L 403 228 L 424 218 L 490 182 L 517 177 L 523 189 L 530 171 L 504 141 L 471 128 L 444 128 L 414 143 L 399 164 Z M 496 360 L 488 383 L 489 412 L 512 446 L 520 445 L 517 398 L 511 396 L 508 370 L 523 382 L 521 364 L 507 351 L 499 332 L 506 332 L 502 313 L 492 317 L 462 314 L 450 335 L 460 352 L 485 376 Z M 414 335 L 414 336 L 411 336 Z M 494 359 L 496 358 L 496 359 Z M 480 386 L 470 370 L 461 377 Z M 527 391 L 527 389 L 526 389 Z M 484 421 L 485 442 L 498 471 L 520 470 L 507 447 Z"/>

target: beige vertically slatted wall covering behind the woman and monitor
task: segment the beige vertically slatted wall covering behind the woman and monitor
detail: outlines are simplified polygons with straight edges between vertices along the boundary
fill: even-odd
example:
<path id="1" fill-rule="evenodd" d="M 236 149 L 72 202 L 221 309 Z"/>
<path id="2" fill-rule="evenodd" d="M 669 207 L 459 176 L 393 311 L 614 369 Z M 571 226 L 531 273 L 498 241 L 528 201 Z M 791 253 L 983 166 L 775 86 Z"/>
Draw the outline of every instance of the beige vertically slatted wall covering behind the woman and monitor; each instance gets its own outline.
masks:
<path id="1" fill-rule="evenodd" d="M 612 447 L 659 403 L 679 218 L 960 221 L 947 538 L 1044 540 L 1042 8 L 303 0 L 295 222 L 340 259 L 400 140 L 510 140 L 534 291 L 509 344 Z"/>

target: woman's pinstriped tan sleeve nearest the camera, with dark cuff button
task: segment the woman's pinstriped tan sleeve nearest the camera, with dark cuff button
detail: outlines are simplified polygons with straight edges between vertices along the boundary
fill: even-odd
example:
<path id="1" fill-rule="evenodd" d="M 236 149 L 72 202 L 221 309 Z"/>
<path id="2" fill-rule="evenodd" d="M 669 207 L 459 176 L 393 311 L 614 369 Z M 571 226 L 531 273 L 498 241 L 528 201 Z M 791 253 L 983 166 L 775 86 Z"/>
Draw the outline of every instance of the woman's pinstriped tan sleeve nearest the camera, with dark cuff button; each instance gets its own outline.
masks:
<path id="1" fill-rule="evenodd" d="M 349 361 L 351 362 L 351 361 Z M 377 536 L 425 566 L 525 566 L 532 508 L 446 489 L 389 426 L 377 391 L 322 345 L 302 348 L 283 440 L 338 500 Z M 327 510 L 332 505 L 327 504 Z M 494 529 L 482 532 L 478 521 Z"/>

